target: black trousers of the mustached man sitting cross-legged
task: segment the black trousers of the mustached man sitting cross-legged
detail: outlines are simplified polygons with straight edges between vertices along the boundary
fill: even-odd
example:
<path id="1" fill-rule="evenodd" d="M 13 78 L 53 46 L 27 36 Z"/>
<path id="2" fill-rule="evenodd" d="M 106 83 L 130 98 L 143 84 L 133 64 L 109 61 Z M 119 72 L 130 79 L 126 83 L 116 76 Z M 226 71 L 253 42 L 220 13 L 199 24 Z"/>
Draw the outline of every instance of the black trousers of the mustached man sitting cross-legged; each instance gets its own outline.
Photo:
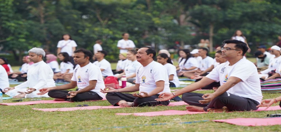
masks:
<path id="1" fill-rule="evenodd" d="M 145 98 L 138 98 L 133 96 L 132 94 L 127 93 L 119 93 L 119 92 L 110 92 L 106 94 L 106 99 L 110 104 L 113 106 L 118 106 L 118 103 L 121 100 L 125 100 L 127 102 L 134 102 L 134 106 L 142 107 L 142 106 L 157 106 L 157 105 L 168 105 L 170 101 L 156 101 L 159 94 L 145 97 Z"/>

